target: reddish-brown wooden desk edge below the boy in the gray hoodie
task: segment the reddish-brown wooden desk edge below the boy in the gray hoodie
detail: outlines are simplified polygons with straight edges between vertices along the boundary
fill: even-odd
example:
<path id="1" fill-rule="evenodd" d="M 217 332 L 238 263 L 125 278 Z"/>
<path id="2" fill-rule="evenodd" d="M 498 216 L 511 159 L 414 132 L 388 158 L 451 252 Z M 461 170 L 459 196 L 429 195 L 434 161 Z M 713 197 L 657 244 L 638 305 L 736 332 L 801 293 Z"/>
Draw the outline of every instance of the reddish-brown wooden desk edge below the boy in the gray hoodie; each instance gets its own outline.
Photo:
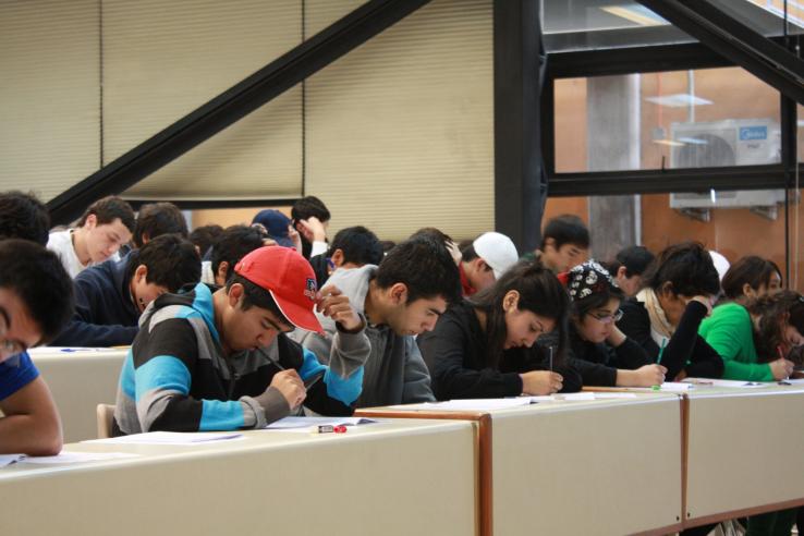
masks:
<path id="1" fill-rule="evenodd" d="M 479 490 L 477 497 L 477 526 L 480 536 L 494 535 L 494 479 L 491 471 L 491 415 L 484 412 L 438 412 L 430 410 L 382 410 L 361 409 L 354 412 L 362 417 L 387 418 L 434 418 L 443 421 L 472 421 L 477 423 L 477 474 Z"/>

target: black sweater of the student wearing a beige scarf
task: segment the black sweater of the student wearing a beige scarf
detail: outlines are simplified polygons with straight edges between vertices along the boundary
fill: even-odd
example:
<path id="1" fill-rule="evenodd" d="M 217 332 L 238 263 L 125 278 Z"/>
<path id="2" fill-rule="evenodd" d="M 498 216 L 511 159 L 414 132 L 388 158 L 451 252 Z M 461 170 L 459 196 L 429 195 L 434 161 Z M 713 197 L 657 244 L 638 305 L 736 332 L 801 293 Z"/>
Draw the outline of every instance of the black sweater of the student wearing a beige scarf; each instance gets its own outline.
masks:
<path id="1" fill-rule="evenodd" d="M 649 363 L 656 363 L 659 357 L 659 345 L 650 337 L 650 316 L 645 304 L 629 299 L 620 308 L 623 314 L 617 326 L 626 337 L 645 349 Z M 706 312 L 704 304 L 693 301 L 686 305 L 684 314 L 681 315 L 679 326 L 661 354 L 661 365 L 667 367 L 669 380 L 675 378 L 682 370 L 693 378 L 720 378 L 723 375 L 723 360 L 698 336 L 698 326 L 706 317 Z"/>

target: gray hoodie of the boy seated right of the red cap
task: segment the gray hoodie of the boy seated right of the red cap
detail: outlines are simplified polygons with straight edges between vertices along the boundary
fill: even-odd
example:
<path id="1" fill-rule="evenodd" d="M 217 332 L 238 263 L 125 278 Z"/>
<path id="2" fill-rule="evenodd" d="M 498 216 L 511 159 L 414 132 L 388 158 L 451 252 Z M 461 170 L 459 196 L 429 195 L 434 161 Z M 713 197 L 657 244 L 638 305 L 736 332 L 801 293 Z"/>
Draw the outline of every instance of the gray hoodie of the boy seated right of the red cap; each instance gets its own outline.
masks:
<path id="1" fill-rule="evenodd" d="M 352 306 L 365 316 L 368 283 L 377 271 L 374 265 L 350 270 L 339 269 L 327 280 L 349 296 Z M 326 337 L 310 331 L 296 330 L 293 339 L 313 351 L 326 364 L 329 349 L 336 333 L 331 318 L 316 313 Z M 427 370 L 416 341 L 411 336 L 398 336 L 388 326 L 366 327 L 366 336 L 371 343 L 371 352 L 364 365 L 363 393 L 357 399 L 357 407 L 409 404 L 435 401 L 430 390 L 430 375 Z"/>

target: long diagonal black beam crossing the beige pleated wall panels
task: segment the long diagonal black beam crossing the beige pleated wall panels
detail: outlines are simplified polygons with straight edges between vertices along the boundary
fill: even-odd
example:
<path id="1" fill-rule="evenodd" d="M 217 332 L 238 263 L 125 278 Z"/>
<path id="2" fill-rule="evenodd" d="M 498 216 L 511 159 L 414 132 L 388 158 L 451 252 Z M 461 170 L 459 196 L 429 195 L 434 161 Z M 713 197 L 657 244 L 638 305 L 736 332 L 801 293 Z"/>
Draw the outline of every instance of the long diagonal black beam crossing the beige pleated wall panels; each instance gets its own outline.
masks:
<path id="1" fill-rule="evenodd" d="M 68 223 L 96 199 L 127 190 L 428 2 L 369 0 L 51 199 L 52 223 Z"/>

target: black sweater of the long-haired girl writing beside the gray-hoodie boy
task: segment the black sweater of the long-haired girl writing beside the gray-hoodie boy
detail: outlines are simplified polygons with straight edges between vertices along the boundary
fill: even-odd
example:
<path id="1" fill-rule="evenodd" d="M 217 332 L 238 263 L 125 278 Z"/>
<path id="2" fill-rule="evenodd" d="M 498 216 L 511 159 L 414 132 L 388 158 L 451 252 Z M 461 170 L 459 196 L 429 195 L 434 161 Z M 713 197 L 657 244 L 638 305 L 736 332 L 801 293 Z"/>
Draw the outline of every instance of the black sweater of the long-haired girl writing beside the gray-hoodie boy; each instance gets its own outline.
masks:
<path id="1" fill-rule="evenodd" d="M 418 336 L 417 343 L 438 400 L 517 397 L 522 394 L 520 374 L 549 366 L 534 345 L 505 350 L 498 368 L 487 367 L 486 333 L 465 301 L 451 306 L 433 331 Z M 575 369 L 557 360 L 553 370 L 564 378 L 562 392 L 581 390 L 581 375 Z"/>

